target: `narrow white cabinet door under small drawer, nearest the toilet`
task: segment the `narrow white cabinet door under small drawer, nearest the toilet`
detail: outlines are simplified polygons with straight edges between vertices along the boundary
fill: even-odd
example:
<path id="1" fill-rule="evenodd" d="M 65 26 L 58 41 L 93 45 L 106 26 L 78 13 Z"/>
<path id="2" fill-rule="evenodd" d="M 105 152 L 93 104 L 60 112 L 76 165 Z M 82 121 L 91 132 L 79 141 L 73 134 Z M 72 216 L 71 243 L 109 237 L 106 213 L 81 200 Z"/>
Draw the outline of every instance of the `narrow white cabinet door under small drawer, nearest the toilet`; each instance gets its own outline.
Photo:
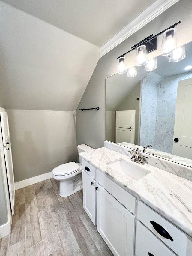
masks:
<path id="1" fill-rule="evenodd" d="M 96 225 L 96 181 L 83 170 L 83 208 Z"/>

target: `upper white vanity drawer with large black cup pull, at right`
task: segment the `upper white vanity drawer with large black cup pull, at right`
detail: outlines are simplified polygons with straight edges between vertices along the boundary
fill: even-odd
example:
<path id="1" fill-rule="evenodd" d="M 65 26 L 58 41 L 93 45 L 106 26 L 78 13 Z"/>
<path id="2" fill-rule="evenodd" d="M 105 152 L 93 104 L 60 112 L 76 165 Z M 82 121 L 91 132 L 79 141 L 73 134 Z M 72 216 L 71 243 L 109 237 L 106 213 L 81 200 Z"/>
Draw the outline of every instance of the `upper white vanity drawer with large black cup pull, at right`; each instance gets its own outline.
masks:
<path id="1" fill-rule="evenodd" d="M 190 237 L 141 201 L 138 201 L 137 218 L 176 254 L 192 255 Z"/>

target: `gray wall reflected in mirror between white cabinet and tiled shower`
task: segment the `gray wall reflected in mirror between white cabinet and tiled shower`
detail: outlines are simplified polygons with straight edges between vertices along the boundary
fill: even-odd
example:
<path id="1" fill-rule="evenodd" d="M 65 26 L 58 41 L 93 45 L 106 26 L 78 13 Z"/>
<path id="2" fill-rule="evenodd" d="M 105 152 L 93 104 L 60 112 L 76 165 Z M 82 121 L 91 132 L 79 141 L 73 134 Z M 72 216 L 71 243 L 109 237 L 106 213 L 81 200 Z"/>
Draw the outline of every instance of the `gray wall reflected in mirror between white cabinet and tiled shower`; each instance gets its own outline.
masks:
<path id="1" fill-rule="evenodd" d="M 138 133 L 139 133 L 139 125 L 140 125 L 140 116 L 139 116 L 139 109 L 140 109 L 140 101 L 136 100 L 136 98 L 140 98 L 140 91 L 141 91 L 141 82 L 139 82 L 132 92 L 127 96 L 127 98 L 122 102 L 122 104 L 117 108 L 117 110 L 135 110 L 135 143 L 138 143 Z"/>

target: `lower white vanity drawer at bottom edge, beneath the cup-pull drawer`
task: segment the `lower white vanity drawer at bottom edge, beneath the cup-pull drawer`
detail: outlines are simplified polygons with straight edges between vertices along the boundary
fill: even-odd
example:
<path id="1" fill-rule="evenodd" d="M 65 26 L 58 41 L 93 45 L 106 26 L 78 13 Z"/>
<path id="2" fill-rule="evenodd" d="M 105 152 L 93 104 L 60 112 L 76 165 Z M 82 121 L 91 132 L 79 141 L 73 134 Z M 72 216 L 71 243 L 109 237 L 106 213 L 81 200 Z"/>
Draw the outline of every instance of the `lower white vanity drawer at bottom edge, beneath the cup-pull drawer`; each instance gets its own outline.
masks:
<path id="1" fill-rule="evenodd" d="M 154 236 L 145 226 L 143 226 L 143 224 L 137 221 L 135 255 L 175 256 L 176 254 L 167 248 L 167 246 Z"/>

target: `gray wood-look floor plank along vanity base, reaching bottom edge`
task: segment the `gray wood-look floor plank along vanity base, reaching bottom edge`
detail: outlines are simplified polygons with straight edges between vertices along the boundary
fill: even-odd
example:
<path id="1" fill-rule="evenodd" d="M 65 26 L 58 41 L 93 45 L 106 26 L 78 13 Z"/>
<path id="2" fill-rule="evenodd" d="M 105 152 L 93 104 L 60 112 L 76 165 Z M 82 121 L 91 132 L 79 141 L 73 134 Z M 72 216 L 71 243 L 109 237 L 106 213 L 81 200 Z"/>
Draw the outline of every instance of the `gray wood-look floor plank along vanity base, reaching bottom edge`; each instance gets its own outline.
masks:
<path id="1" fill-rule="evenodd" d="M 86 229 L 88 230 L 88 233 L 90 234 L 91 238 L 93 239 L 93 241 L 94 241 L 96 247 L 98 248 L 98 251 L 101 253 L 101 255 L 113 256 L 113 253 L 110 251 L 109 247 L 104 242 L 103 238 L 97 231 L 96 227 L 94 226 L 93 222 L 88 217 L 86 212 L 84 212 L 80 216 L 80 218 L 81 218 L 83 224 L 85 225 Z"/>

